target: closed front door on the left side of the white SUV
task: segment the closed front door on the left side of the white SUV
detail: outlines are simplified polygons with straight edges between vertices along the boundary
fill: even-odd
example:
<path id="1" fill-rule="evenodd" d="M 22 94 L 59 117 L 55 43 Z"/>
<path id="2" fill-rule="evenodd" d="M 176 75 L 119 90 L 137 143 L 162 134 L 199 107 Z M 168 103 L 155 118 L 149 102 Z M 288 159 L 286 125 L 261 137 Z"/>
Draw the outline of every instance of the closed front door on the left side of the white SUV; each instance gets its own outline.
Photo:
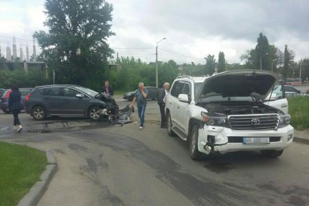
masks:
<path id="1" fill-rule="evenodd" d="M 189 102 L 192 100 L 192 85 L 190 82 L 183 82 L 183 90 L 181 91 L 182 94 L 185 94 L 189 98 Z M 176 119 L 178 119 L 179 124 L 179 130 L 181 130 L 182 133 L 185 133 L 185 128 L 187 126 L 185 125 L 187 122 L 187 112 L 189 109 L 189 102 L 181 102 L 177 99 L 177 106 L 176 106 Z"/>

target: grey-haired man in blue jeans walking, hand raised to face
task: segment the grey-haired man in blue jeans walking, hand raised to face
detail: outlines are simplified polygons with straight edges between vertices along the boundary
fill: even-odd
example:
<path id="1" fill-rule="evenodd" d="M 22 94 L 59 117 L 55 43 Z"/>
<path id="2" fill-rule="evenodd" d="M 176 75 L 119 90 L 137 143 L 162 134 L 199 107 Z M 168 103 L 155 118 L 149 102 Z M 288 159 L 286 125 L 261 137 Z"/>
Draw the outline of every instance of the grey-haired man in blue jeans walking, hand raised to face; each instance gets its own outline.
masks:
<path id="1" fill-rule="evenodd" d="M 144 87 L 143 82 L 139 82 L 139 89 L 135 91 L 135 97 L 132 101 L 131 106 L 134 106 L 135 101 L 137 102 L 137 112 L 139 113 L 139 119 L 141 120 L 141 123 L 139 124 L 139 129 L 142 129 L 144 126 L 144 119 L 145 119 L 145 111 L 146 111 L 146 105 L 147 105 L 147 95 L 148 95 L 148 89 Z"/>

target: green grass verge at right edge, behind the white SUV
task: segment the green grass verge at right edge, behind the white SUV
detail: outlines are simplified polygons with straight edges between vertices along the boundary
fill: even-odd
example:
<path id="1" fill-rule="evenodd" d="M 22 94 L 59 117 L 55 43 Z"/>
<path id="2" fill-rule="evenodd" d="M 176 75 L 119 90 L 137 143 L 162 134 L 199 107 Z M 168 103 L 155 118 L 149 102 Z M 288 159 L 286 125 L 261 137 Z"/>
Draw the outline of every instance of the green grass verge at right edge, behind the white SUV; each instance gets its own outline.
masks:
<path id="1" fill-rule="evenodd" d="M 288 113 L 297 130 L 309 128 L 309 96 L 288 98 Z"/>

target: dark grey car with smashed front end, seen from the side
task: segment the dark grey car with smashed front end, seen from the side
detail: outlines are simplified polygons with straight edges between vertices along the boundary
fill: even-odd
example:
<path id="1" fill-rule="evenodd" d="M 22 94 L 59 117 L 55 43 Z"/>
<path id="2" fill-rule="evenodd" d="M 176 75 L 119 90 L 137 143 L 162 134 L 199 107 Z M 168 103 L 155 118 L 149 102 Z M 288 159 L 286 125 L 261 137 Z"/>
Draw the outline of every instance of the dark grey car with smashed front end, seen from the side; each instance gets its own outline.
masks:
<path id="1" fill-rule="evenodd" d="M 36 120 L 47 116 L 89 117 L 99 120 L 102 115 L 116 115 L 118 106 L 108 94 L 72 84 L 35 87 L 25 98 L 26 112 Z"/>

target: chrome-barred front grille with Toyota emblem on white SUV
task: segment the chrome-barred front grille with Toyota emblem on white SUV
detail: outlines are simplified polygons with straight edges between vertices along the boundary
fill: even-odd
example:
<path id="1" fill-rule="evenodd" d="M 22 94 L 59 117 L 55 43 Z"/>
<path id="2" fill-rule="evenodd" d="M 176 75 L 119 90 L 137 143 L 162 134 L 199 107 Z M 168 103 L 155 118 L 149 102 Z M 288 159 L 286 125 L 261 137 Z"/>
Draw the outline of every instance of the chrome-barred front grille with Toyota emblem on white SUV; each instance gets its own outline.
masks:
<path id="1" fill-rule="evenodd" d="M 277 114 L 229 116 L 232 130 L 272 130 L 279 124 Z"/>

